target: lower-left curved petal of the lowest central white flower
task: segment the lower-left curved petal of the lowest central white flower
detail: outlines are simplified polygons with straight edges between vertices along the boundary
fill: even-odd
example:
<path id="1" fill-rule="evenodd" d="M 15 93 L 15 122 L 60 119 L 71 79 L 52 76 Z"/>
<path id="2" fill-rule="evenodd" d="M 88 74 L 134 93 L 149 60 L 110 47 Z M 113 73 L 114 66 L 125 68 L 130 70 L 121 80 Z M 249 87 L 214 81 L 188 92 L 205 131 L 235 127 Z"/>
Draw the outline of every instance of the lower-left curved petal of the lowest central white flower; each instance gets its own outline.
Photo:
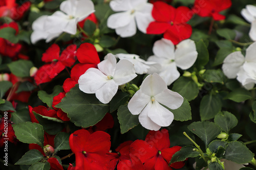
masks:
<path id="1" fill-rule="evenodd" d="M 147 113 L 148 111 L 150 111 L 152 107 L 152 102 L 149 102 L 146 107 L 142 110 L 142 112 L 139 115 L 139 122 L 141 124 L 141 126 L 143 126 L 144 128 L 148 129 L 148 130 L 153 130 L 153 131 L 158 131 L 161 126 L 157 125 L 156 123 L 154 123 L 150 117 L 148 117 Z"/>

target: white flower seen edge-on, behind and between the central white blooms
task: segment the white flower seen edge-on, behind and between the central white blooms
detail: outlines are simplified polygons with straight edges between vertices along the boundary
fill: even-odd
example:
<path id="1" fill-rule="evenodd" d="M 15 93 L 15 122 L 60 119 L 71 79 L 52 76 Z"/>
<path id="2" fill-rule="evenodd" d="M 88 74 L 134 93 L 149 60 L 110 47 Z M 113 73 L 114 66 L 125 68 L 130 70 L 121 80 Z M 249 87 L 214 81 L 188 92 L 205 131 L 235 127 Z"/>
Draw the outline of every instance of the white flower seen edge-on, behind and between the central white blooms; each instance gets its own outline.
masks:
<path id="1" fill-rule="evenodd" d="M 141 59 L 138 55 L 136 54 L 116 54 L 116 56 L 120 60 L 129 60 L 134 64 L 135 71 L 137 74 L 146 74 L 148 70 L 151 72 L 156 72 L 158 69 L 161 68 L 161 65 L 156 63 L 156 62 L 151 62 L 151 61 L 145 61 Z"/>

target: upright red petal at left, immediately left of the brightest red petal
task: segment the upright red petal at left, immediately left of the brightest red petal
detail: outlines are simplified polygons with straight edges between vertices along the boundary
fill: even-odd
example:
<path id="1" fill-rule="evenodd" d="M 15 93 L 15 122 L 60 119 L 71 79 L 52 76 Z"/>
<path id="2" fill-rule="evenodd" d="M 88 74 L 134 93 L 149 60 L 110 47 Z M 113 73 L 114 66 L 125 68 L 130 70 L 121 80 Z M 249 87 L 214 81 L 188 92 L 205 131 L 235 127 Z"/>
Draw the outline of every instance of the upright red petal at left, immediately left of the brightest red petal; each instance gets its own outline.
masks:
<path id="1" fill-rule="evenodd" d="M 61 61 L 63 65 L 67 67 L 71 67 L 76 61 L 75 55 L 76 55 L 76 45 L 75 44 L 69 45 L 61 53 L 59 57 L 59 61 Z"/>

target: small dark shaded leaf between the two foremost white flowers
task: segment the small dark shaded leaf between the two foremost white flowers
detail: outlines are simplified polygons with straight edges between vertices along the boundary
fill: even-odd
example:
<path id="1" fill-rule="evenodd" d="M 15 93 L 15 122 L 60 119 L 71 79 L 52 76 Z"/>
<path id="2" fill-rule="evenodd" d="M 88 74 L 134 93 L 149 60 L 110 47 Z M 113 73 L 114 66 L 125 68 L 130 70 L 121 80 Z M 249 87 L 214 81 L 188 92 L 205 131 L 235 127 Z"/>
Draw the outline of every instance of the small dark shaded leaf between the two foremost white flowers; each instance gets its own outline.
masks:
<path id="1" fill-rule="evenodd" d="M 110 112 L 117 110 L 121 105 L 124 105 L 129 99 L 129 94 L 125 92 L 118 92 L 110 101 Z"/>

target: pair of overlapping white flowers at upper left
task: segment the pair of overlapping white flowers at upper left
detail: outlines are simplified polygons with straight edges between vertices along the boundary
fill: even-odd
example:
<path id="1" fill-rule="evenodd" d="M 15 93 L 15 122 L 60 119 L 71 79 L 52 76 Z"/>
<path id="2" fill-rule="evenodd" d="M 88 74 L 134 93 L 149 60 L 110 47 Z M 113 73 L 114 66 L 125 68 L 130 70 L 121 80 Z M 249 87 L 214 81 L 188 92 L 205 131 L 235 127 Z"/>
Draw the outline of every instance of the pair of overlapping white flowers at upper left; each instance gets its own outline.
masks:
<path id="1" fill-rule="evenodd" d="M 60 4 L 60 11 L 52 15 L 42 15 L 32 24 L 31 42 L 34 44 L 41 39 L 50 42 L 62 32 L 76 34 L 77 23 L 94 12 L 91 0 L 67 0 Z"/>

